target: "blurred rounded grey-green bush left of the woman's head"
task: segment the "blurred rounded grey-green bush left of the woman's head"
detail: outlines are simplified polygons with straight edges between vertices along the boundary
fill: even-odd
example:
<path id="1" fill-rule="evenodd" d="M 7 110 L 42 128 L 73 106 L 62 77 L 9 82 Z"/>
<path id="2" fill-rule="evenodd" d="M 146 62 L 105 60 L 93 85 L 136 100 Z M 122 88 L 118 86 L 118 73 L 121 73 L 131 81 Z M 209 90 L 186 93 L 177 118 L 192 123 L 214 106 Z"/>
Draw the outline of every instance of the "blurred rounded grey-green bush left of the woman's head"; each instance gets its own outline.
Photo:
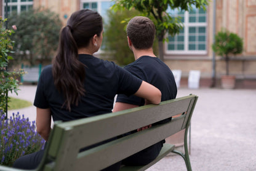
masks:
<path id="1" fill-rule="evenodd" d="M 58 33 L 62 27 L 60 18 L 50 10 L 30 9 L 9 17 L 9 26 L 16 25 L 12 37 L 15 43 L 15 57 L 29 60 L 51 60 L 58 45 Z"/>

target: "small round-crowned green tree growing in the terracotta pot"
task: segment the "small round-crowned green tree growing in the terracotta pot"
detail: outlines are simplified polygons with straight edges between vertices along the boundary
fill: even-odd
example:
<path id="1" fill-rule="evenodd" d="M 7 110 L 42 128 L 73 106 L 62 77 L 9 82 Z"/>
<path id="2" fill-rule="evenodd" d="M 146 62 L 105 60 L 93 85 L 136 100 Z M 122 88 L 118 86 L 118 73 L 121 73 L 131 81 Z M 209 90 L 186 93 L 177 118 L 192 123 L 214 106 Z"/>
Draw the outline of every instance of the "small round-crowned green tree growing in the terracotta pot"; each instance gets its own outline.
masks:
<path id="1" fill-rule="evenodd" d="M 212 44 L 212 50 L 214 50 L 217 55 L 225 58 L 226 75 L 229 74 L 228 63 L 230 61 L 230 55 L 241 54 L 242 48 L 242 38 L 240 38 L 236 33 L 230 33 L 228 30 L 222 30 L 215 35 L 215 42 Z"/>

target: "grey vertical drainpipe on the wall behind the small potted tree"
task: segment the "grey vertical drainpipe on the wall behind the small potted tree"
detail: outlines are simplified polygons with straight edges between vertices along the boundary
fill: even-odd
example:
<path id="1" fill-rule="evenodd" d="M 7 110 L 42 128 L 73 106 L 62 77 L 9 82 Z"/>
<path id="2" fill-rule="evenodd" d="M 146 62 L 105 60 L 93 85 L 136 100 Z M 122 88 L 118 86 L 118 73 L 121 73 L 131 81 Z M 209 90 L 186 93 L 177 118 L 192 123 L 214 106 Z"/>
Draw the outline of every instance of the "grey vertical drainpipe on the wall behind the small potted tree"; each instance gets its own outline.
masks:
<path id="1" fill-rule="evenodd" d="M 216 31 L 216 0 L 213 0 L 214 4 L 214 18 L 213 18 L 213 39 L 212 42 L 215 43 L 215 31 Z M 216 86 L 216 61 L 215 61 L 215 52 L 212 50 L 212 85 L 210 87 Z"/>

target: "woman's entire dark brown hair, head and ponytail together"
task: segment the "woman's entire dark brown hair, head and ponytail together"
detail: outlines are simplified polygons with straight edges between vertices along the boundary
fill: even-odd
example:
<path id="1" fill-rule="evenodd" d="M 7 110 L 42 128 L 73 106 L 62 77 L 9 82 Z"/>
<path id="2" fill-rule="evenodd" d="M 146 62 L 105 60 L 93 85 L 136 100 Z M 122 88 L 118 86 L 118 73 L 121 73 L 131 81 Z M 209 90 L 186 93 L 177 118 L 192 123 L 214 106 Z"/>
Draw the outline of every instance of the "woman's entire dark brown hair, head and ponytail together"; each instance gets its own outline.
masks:
<path id="1" fill-rule="evenodd" d="M 88 9 L 74 12 L 66 26 L 60 31 L 57 55 L 52 65 L 54 85 L 62 93 L 63 106 L 71 111 L 71 105 L 78 105 L 85 94 L 85 65 L 79 62 L 78 49 L 87 47 L 90 39 L 103 30 L 102 17 L 98 12 Z"/>

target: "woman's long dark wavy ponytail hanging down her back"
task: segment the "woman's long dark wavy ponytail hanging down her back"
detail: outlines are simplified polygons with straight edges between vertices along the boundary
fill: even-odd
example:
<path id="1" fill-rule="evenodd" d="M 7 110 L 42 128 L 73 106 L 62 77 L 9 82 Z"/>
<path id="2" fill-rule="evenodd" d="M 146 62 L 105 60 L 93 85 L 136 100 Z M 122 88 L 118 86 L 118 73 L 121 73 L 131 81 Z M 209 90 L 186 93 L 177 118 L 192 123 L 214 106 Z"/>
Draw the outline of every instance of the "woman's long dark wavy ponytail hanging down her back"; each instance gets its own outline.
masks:
<path id="1" fill-rule="evenodd" d="M 53 61 L 54 84 L 65 98 L 66 109 L 71 111 L 71 104 L 78 105 L 79 99 L 86 92 L 84 79 L 86 71 L 78 60 L 78 46 L 71 34 L 71 26 L 65 26 L 60 33 L 58 52 Z"/>

